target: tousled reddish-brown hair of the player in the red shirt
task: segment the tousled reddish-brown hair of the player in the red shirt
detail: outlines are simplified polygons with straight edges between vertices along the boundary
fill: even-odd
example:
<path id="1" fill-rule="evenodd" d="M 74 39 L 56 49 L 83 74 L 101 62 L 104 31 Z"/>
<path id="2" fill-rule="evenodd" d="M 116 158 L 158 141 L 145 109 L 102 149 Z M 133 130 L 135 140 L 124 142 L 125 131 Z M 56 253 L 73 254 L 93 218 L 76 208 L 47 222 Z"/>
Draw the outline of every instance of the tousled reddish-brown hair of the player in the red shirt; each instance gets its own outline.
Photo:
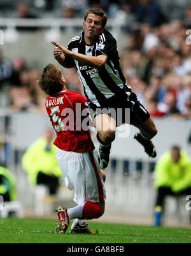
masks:
<path id="1" fill-rule="evenodd" d="M 53 96 L 63 89 L 61 78 L 60 69 L 53 64 L 48 64 L 43 69 L 43 73 L 41 73 L 37 82 L 41 90 Z"/>

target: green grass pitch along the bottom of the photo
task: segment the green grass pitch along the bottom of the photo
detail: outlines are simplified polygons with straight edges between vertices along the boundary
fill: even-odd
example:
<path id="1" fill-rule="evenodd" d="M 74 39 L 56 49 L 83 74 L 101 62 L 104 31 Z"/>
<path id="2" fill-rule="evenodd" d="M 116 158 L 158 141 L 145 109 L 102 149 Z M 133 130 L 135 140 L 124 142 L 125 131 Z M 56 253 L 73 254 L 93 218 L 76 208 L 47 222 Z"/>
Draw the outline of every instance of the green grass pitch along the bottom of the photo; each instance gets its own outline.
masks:
<path id="1" fill-rule="evenodd" d="M 55 233 L 56 220 L 0 219 L 0 243 L 191 243 L 190 229 L 89 222 L 99 234 Z"/>

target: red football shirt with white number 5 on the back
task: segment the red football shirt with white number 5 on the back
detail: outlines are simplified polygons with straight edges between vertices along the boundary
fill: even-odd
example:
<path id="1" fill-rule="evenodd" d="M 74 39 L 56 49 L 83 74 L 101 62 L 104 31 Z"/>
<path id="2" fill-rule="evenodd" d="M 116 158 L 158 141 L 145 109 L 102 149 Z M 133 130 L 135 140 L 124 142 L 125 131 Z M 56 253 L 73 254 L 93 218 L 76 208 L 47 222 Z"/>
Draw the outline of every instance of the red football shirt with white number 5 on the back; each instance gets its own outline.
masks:
<path id="1" fill-rule="evenodd" d="M 87 99 L 80 93 L 64 90 L 56 96 L 46 97 L 46 111 L 57 133 L 54 145 L 61 150 L 73 152 L 94 150 L 90 131 L 86 125 L 88 122 L 85 122 L 88 120 L 86 101 Z M 82 129 L 84 125 L 81 127 L 83 121 L 86 129 Z"/>

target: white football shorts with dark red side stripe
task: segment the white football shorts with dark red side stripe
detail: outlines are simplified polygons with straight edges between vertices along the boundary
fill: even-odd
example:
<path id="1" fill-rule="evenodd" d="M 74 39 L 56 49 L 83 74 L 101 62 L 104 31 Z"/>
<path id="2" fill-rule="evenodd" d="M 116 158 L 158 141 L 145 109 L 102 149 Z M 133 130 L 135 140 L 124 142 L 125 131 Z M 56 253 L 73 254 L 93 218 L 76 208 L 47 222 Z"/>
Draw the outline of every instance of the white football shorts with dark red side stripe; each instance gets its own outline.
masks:
<path id="1" fill-rule="evenodd" d="M 103 177 L 94 152 L 57 150 L 57 161 L 65 176 L 66 187 L 74 189 L 74 202 L 104 202 L 106 192 Z"/>

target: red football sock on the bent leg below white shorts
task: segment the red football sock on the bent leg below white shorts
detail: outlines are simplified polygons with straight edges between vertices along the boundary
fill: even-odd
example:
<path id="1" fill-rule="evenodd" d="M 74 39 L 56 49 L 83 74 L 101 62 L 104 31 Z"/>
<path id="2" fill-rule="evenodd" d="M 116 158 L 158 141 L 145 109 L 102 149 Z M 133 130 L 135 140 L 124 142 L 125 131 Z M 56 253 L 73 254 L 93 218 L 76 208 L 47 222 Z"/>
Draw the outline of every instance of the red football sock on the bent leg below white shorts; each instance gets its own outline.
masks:
<path id="1" fill-rule="evenodd" d="M 99 218 L 101 217 L 101 212 L 102 210 L 99 204 L 87 201 L 83 206 L 82 218 L 87 220 L 92 220 L 92 218 Z"/>

